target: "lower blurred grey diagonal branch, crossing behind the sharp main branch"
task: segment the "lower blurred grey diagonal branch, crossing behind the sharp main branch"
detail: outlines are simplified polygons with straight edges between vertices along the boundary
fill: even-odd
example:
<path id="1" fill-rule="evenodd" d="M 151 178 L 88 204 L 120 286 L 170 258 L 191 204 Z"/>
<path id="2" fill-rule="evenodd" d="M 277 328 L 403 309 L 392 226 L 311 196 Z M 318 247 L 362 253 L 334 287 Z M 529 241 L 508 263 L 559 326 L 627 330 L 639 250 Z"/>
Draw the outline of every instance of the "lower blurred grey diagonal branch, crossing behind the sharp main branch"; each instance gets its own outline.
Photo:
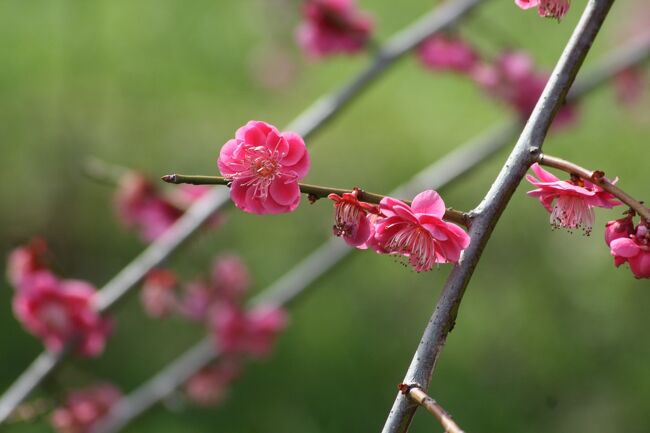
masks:
<path id="1" fill-rule="evenodd" d="M 620 70 L 639 64 L 650 56 L 650 40 L 645 45 L 634 45 L 632 48 L 634 49 L 621 47 L 608 54 L 593 71 L 576 82 L 575 88 L 579 90 L 573 91 L 569 99 L 576 100 L 583 97 L 597 86 L 606 84 Z M 620 52 L 626 52 L 627 57 L 621 58 Z M 516 119 L 506 121 L 488 130 L 423 169 L 409 182 L 395 189 L 391 195 L 412 196 L 427 188 L 439 190 L 450 185 L 507 146 L 520 130 L 521 124 Z M 340 239 L 330 239 L 253 298 L 250 306 L 286 307 L 352 251 L 355 250 L 341 242 Z M 117 432 L 154 404 L 163 400 L 193 373 L 218 357 L 219 353 L 213 347 L 214 341 L 210 337 L 197 343 L 149 381 L 125 396 L 114 407 L 104 423 L 98 426 L 93 433 Z"/>

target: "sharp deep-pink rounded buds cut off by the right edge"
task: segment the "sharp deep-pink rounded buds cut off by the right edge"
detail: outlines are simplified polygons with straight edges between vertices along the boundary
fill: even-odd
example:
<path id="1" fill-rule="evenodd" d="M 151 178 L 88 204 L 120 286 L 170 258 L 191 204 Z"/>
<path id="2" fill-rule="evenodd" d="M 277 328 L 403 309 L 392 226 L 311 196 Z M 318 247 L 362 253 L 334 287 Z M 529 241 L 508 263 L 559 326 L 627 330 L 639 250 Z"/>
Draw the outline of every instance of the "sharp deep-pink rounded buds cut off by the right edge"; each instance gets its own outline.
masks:
<path id="1" fill-rule="evenodd" d="M 605 242 L 614 256 L 616 267 L 630 265 L 636 278 L 650 278 L 650 228 L 641 221 L 636 227 L 632 215 L 609 221 L 605 228 Z"/>

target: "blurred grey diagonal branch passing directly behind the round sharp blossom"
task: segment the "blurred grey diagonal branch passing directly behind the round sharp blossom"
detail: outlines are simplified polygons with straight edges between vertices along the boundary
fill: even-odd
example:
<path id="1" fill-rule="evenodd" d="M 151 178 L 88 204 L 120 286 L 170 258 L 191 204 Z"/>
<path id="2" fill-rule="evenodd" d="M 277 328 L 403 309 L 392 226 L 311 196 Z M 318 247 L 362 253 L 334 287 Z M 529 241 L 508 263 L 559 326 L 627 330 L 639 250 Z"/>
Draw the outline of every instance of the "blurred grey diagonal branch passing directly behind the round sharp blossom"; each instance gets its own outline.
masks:
<path id="1" fill-rule="evenodd" d="M 392 36 L 379 49 L 373 62 L 349 83 L 317 100 L 287 128 L 307 138 L 342 110 L 363 89 L 374 82 L 404 54 L 417 47 L 428 36 L 453 26 L 474 7 L 487 0 L 454 0 L 445 2 L 415 23 Z M 206 193 L 162 236 L 152 242 L 139 256 L 110 280 L 99 292 L 95 306 L 105 311 L 121 299 L 155 266 L 166 260 L 203 223 L 228 201 L 224 190 Z M 67 352 L 67 351 L 66 351 Z M 66 352 L 52 355 L 43 352 L 0 398 L 0 424 L 54 369 Z M 37 368 L 38 367 L 38 368 Z"/>

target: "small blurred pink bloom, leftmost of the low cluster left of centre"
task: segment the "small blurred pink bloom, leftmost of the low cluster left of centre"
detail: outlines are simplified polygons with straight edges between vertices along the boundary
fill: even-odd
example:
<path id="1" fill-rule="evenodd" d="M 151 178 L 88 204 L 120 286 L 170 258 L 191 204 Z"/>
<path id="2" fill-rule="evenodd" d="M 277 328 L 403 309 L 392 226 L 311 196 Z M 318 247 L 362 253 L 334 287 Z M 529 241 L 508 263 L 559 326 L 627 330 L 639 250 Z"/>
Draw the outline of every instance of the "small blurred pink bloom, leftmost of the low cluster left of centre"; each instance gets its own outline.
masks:
<path id="1" fill-rule="evenodd" d="M 153 269 L 149 272 L 140 292 L 140 300 L 149 316 L 164 317 L 176 311 L 177 283 L 176 275 L 169 270 Z"/>

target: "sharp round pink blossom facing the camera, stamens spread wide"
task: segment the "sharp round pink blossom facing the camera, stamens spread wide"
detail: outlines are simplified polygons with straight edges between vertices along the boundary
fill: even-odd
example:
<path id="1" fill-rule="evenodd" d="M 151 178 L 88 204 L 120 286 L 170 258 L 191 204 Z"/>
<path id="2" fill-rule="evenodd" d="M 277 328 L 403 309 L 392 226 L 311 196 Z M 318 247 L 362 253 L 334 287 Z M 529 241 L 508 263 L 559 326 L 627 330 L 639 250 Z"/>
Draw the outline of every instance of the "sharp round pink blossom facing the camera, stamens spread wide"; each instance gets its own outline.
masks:
<path id="1" fill-rule="evenodd" d="M 300 203 L 298 181 L 309 170 L 309 154 L 298 134 L 250 121 L 223 145 L 218 166 L 231 181 L 230 197 L 238 208 L 255 214 L 285 213 Z"/>

